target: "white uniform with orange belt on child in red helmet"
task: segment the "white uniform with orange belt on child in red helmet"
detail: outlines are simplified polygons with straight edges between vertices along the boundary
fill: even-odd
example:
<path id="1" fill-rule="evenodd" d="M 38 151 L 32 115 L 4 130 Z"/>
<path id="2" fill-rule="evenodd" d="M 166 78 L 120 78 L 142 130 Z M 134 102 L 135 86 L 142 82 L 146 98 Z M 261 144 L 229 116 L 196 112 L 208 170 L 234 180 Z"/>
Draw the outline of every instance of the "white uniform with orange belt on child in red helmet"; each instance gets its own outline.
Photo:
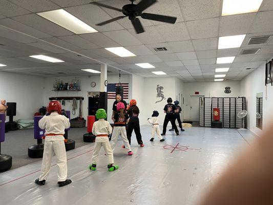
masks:
<path id="1" fill-rule="evenodd" d="M 53 154 L 56 155 L 56 164 L 58 169 L 58 181 L 65 181 L 67 179 L 67 153 L 65 147 L 65 129 L 70 127 L 69 119 L 64 115 L 59 115 L 52 112 L 48 116 L 44 116 L 39 120 L 39 127 L 46 129 L 46 139 L 44 145 L 43 162 L 41 163 L 41 175 L 39 181 L 47 179 L 51 159 Z M 50 134 L 54 134 L 50 136 Z M 58 135 L 59 134 L 59 135 Z"/>

